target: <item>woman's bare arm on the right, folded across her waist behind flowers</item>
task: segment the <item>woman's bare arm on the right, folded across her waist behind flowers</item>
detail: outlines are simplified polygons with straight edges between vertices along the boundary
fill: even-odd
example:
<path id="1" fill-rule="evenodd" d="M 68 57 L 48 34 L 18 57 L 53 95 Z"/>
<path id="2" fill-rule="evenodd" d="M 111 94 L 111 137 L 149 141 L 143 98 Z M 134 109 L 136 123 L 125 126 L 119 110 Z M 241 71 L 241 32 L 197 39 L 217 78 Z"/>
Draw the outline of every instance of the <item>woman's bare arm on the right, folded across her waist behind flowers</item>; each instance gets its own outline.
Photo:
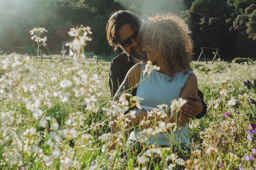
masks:
<path id="1" fill-rule="evenodd" d="M 188 96 L 191 94 L 197 95 L 197 77 L 196 77 L 196 75 L 194 75 L 194 73 L 191 73 L 188 76 L 185 86 L 180 94 L 180 98 L 188 99 Z M 146 120 L 154 119 L 153 117 L 149 117 L 147 115 L 147 111 L 139 110 L 139 109 L 136 110 L 136 113 L 133 115 L 127 114 L 127 117 L 130 120 L 132 120 L 132 123 L 134 126 L 138 125 L 141 122 L 141 120 L 143 120 L 143 119 L 146 119 Z M 170 123 L 176 122 L 177 125 L 184 126 L 188 120 L 188 117 L 186 117 L 186 115 L 184 115 L 183 113 L 180 113 L 180 112 L 178 114 L 176 114 L 176 117 L 171 117 L 171 112 L 168 112 L 166 118 L 158 119 L 158 121 L 163 121 L 163 122 L 166 122 L 167 120 Z"/>

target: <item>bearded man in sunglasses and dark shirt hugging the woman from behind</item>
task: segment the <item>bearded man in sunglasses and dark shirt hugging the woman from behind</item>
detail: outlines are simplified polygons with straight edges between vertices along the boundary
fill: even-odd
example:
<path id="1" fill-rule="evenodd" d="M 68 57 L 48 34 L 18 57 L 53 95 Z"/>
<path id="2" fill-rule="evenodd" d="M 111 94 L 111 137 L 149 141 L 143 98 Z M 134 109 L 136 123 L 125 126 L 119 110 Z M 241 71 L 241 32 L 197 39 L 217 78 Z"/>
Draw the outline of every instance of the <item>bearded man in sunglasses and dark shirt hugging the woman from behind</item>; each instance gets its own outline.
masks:
<path id="1" fill-rule="evenodd" d="M 109 89 L 111 98 L 116 94 L 130 68 L 136 63 L 147 61 L 146 53 L 136 43 L 141 23 L 142 20 L 139 16 L 130 11 L 115 12 L 107 23 L 106 32 L 109 44 L 114 46 L 114 50 L 118 47 L 123 50 L 110 64 Z M 136 90 L 133 91 L 132 95 L 136 95 Z M 184 114 L 190 118 L 202 118 L 207 111 L 203 98 L 203 93 L 198 90 L 198 96 L 191 95 L 190 99 L 186 99 L 187 103 L 182 107 Z"/>

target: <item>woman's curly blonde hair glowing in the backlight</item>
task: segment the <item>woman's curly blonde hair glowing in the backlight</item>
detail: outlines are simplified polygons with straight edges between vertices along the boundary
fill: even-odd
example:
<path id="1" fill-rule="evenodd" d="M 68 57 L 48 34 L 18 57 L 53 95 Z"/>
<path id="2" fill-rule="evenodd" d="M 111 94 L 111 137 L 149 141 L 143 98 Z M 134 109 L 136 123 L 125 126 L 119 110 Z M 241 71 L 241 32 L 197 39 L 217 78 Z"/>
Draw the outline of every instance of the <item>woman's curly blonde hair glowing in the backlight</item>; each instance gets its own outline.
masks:
<path id="1" fill-rule="evenodd" d="M 187 24 L 180 17 L 161 13 L 142 24 L 137 41 L 142 46 L 148 43 L 150 48 L 159 50 L 159 57 L 164 61 L 163 69 L 173 77 L 172 74 L 179 65 L 192 71 L 193 45 L 190 33 Z"/>

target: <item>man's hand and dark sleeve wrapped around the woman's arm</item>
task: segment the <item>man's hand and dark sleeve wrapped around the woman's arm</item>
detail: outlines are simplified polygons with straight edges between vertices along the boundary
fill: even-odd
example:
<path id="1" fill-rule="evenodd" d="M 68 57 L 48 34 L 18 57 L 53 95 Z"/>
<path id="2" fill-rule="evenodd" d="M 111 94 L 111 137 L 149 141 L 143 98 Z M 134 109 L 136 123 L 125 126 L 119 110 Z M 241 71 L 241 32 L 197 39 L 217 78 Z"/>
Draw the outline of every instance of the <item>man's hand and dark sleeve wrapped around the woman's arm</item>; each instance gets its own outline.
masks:
<path id="1" fill-rule="evenodd" d="M 190 95 L 188 97 L 190 99 L 186 99 L 187 103 L 182 107 L 184 114 L 189 118 L 196 117 L 200 119 L 204 117 L 207 112 L 207 106 L 204 102 L 203 93 L 198 90 L 198 95 Z"/>

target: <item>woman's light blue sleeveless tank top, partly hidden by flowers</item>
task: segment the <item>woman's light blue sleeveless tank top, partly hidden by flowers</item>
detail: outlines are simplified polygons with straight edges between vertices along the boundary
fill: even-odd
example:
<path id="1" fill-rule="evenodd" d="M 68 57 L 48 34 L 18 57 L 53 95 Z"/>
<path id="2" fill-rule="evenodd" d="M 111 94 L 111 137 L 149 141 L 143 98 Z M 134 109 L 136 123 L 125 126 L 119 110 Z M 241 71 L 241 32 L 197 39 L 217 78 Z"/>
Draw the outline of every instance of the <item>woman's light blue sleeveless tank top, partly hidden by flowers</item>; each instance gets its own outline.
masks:
<path id="1" fill-rule="evenodd" d="M 141 63 L 140 82 L 147 76 L 147 73 L 143 75 L 145 70 L 145 64 Z M 173 80 L 170 76 L 152 71 L 149 78 L 142 81 L 137 88 L 136 95 L 143 98 L 140 100 L 140 106 L 142 109 L 151 111 L 152 108 L 158 108 L 157 105 L 167 104 L 168 107 L 171 105 L 171 101 L 180 97 L 181 91 L 184 88 L 188 76 L 192 71 L 188 71 L 185 74 L 184 70 L 174 74 Z M 187 125 L 178 128 L 174 133 L 157 133 L 146 139 L 146 143 L 155 145 L 170 145 L 171 143 L 190 143 L 187 133 Z M 129 140 L 140 140 L 145 138 L 145 134 L 142 133 L 142 128 L 136 128 L 129 137 Z M 169 136 L 169 137 L 168 137 Z M 168 138 L 172 137 L 173 141 Z M 148 137 L 148 136 L 147 136 Z"/>

